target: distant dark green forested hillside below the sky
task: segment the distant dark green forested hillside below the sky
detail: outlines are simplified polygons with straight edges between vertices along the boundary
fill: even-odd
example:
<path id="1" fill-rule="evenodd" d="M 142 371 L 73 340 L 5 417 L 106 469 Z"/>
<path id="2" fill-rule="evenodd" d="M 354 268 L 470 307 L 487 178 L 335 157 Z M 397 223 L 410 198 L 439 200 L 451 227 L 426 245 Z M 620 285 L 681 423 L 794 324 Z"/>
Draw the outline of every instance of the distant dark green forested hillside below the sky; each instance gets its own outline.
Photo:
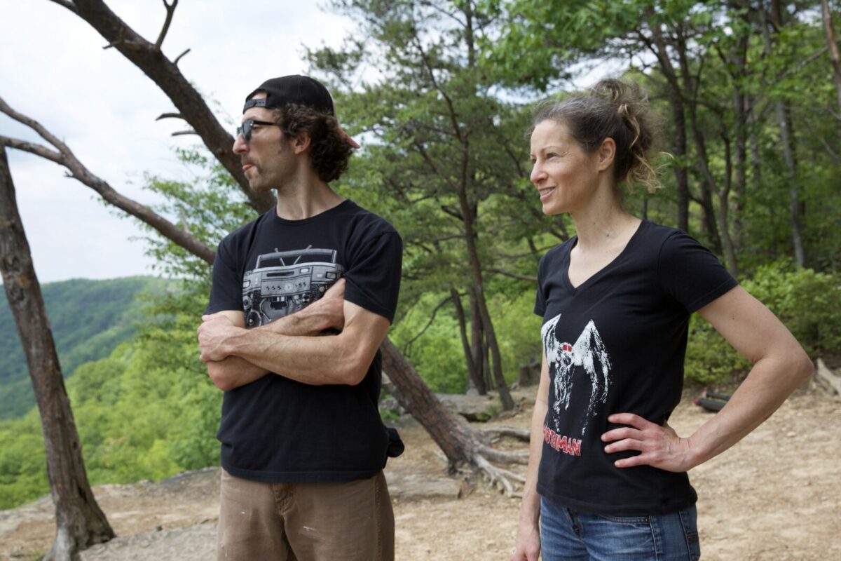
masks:
<path id="1" fill-rule="evenodd" d="M 41 286 L 65 377 L 82 364 L 107 357 L 135 333 L 146 292 L 166 283 L 151 277 L 88 280 L 74 278 Z M 24 415 L 35 398 L 26 359 L 5 293 L 0 299 L 0 420 Z"/>

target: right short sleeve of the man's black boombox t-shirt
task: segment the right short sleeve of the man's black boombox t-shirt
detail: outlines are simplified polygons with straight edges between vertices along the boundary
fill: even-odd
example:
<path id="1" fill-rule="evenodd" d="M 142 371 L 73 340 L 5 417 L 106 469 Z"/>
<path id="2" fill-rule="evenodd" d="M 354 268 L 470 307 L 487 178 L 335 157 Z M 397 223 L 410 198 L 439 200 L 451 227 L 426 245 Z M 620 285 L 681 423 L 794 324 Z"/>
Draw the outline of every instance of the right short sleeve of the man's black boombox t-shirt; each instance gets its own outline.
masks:
<path id="1" fill-rule="evenodd" d="M 344 274 L 345 299 L 391 323 L 397 309 L 403 241 L 391 231 L 374 237 L 356 252 Z"/>

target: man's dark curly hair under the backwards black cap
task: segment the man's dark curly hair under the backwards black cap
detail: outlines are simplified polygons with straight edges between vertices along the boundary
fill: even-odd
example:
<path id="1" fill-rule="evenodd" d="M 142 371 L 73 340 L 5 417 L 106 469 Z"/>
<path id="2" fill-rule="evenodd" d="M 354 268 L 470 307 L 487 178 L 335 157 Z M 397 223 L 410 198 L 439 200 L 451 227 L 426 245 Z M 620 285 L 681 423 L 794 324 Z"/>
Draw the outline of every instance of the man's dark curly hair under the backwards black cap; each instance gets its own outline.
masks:
<path id="1" fill-rule="evenodd" d="M 336 115 L 298 103 L 273 108 L 272 115 L 283 135 L 309 135 L 309 161 L 321 181 L 330 183 L 347 171 L 353 149 L 341 135 Z"/>

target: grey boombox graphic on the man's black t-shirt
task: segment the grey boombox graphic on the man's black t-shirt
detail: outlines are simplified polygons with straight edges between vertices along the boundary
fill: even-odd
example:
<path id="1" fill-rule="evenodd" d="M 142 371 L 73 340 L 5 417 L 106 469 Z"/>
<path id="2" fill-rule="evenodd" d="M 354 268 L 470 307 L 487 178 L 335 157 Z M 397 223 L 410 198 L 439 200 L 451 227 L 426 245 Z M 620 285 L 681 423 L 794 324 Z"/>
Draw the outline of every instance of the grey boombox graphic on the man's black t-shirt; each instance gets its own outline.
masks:
<path id="1" fill-rule="evenodd" d="M 332 249 L 307 247 L 257 256 L 254 268 L 242 278 L 246 327 L 257 327 L 303 310 L 320 299 L 344 271 Z"/>

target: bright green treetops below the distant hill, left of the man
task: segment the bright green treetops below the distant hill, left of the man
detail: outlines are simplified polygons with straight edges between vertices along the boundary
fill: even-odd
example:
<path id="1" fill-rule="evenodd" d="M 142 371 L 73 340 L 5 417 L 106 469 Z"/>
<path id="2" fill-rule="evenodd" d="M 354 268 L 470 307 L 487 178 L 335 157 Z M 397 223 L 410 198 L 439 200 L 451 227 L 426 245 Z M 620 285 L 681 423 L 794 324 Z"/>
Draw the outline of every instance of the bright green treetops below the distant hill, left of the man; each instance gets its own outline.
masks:
<path id="1" fill-rule="evenodd" d="M 219 462 L 222 392 L 198 361 L 201 283 L 150 297 L 130 341 L 66 381 L 93 484 L 161 479 Z M 158 314 L 167 310 L 167 315 Z M 0 509 L 49 491 L 38 412 L 0 423 Z"/>

